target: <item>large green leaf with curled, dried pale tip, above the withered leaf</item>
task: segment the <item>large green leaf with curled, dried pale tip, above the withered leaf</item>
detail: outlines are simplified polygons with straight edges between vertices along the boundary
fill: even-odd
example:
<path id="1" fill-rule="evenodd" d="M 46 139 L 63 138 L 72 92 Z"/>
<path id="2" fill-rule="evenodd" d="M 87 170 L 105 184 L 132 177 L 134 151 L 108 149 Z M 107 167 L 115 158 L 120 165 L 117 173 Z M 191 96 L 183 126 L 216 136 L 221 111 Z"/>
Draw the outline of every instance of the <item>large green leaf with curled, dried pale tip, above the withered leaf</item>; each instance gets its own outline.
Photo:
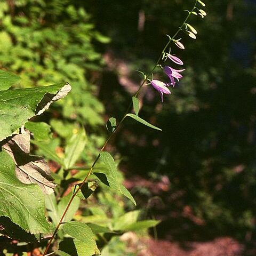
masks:
<path id="1" fill-rule="evenodd" d="M 17 133 L 29 118 L 48 109 L 50 104 L 67 95 L 69 84 L 0 91 L 0 141 Z"/>

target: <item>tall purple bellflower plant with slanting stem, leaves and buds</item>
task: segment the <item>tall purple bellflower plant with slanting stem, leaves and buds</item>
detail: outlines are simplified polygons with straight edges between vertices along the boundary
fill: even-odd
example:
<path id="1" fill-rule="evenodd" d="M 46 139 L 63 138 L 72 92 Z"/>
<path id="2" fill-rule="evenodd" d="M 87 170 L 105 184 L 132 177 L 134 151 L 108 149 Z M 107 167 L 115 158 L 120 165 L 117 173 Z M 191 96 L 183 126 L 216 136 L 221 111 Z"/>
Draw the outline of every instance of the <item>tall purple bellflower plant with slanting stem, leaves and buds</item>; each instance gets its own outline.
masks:
<path id="1" fill-rule="evenodd" d="M 106 148 L 108 142 L 110 141 L 110 139 L 113 137 L 113 135 L 119 129 L 121 124 L 124 122 L 126 117 L 133 118 L 133 119 L 135 119 L 135 121 L 138 121 L 144 125 L 147 125 L 155 130 L 161 131 L 161 129 L 159 129 L 158 127 L 148 123 L 147 121 L 145 121 L 144 119 L 139 117 L 139 100 L 137 97 L 138 97 L 138 94 L 140 93 L 142 86 L 146 86 L 146 85 L 153 86 L 154 89 L 159 92 L 162 102 L 164 100 L 164 94 L 171 94 L 170 87 L 171 86 L 174 87 L 175 84 L 177 84 L 180 81 L 180 79 L 183 77 L 182 72 L 185 71 L 186 69 L 178 68 L 180 66 L 183 66 L 184 63 L 178 57 L 178 54 L 176 55 L 175 50 L 173 50 L 173 48 L 171 48 L 170 45 L 171 45 L 171 43 L 173 43 L 173 46 L 177 47 L 176 48 L 177 50 L 185 50 L 185 46 L 182 43 L 182 38 L 178 38 L 178 35 L 181 31 L 183 31 L 189 37 L 196 39 L 197 30 L 192 25 L 190 25 L 190 23 L 188 23 L 187 21 L 191 15 L 197 15 L 198 17 L 204 18 L 206 15 L 206 12 L 201 9 L 202 6 L 205 7 L 205 4 L 201 0 L 196 0 L 192 9 L 190 11 L 186 10 L 188 12 L 187 17 L 185 18 L 185 20 L 183 21 L 183 23 L 179 27 L 179 29 L 176 31 L 176 33 L 172 37 L 167 35 L 169 40 L 163 47 L 163 50 L 162 50 L 158 60 L 156 61 L 155 66 L 151 69 L 150 74 L 146 75 L 142 71 L 139 71 L 143 75 L 142 83 L 138 87 L 138 90 L 135 93 L 135 95 L 132 97 L 132 101 L 131 101 L 129 107 L 127 108 L 121 121 L 119 121 L 119 123 L 117 123 L 117 121 L 114 117 L 111 117 L 109 119 L 109 121 L 106 125 L 107 129 L 110 133 L 109 137 L 107 138 L 107 140 L 101 147 L 98 156 L 95 158 L 93 164 L 91 165 L 89 172 L 87 172 L 86 177 L 84 178 L 82 183 L 80 183 L 78 186 L 75 187 L 74 193 L 71 196 L 71 198 L 66 206 L 66 209 L 63 211 L 63 214 L 61 215 L 61 218 L 58 221 L 55 231 L 54 231 L 53 235 L 51 236 L 51 238 L 49 239 L 49 242 L 47 243 L 47 246 L 43 253 L 43 256 L 45 256 L 47 254 L 47 252 L 49 251 L 50 246 L 53 242 L 53 239 L 54 239 L 55 235 L 57 234 L 60 226 L 62 224 L 64 224 L 64 226 L 66 225 L 63 222 L 63 220 L 65 219 L 65 216 L 67 215 L 70 205 L 73 203 L 73 201 L 76 198 L 76 196 L 78 195 L 78 193 L 84 189 L 88 190 L 90 188 L 90 184 L 89 184 L 88 180 L 89 180 L 89 177 L 91 176 L 91 174 L 97 175 L 96 172 L 95 173 L 93 173 L 93 172 L 94 172 L 94 167 L 98 163 L 99 160 L 101 160 L 105 164 L 105 166 L 107 167 L 107 169 L 109 171 L 109 173 L 106 175 L 108 186 L 116 189 L 117 191 L 119 191 L 119 193 L 123 194 L 124 196 L 129 198 L 134 204 L 136 204 L 134 201 L 134 198 L 129 193 L 129 191 L 123 185 L 117 183 L 118 175 L 116 174 L 116 169 L 115 169 L 116 167 L 115 167 L 114 159 L 113 159 L 113 157 L 111 157 L 111 155 L 109 153 L 107 153 L 105 151 L 105 148 Z M 171 64 L 168 64 L 167 61 L 171 61 Z M 159 81 L 158 79 L 153 78 L 154 71 L 156 70 L 157 67 L 161 68 L 161 70 L 166 75 L 165 81 Z M 150 79 L 150 77 L 151 77 L 151 79 Z M 132 107 L 133 107 L 135 114 L 131 113 Z M 99 175 L 97 177 L 101 180 L 101 176 L 102 175 Z M 105 177 L 105 179 L 106 179 L 106 177 Z M 104 183 L 103 180 L 102 180 L 102 182 Z M 65 230 L 67 231 L 67 234 L 71 234 L 72 232 L 70 231 L 71 230 L 70 228 L 76 228 L 76 227 L 75 227 L 75 225 L 73 225 L 73 226 L 66 225 L 65 228 L 63 228 L 63 229 L 64 229 L 64 231 Z M 83 230 L 81 228 L 81 232 L 79 234 L 82 234 L 82 233 L 83 233 Z M 78 238 L 76 238 L 76 239 L 78 239 Z M 95 249 L 94 254 L 97 254 L 98 252 L 99 252 L 98 249 L 97 250 Z M 50 254 L 52 254 L 52 253 L 50 253 Z M 50 254 L 47 254 L 47 255 L 50 255 Z M 92 254 L 90 254 L 90 255 L 92 255 Z"/>

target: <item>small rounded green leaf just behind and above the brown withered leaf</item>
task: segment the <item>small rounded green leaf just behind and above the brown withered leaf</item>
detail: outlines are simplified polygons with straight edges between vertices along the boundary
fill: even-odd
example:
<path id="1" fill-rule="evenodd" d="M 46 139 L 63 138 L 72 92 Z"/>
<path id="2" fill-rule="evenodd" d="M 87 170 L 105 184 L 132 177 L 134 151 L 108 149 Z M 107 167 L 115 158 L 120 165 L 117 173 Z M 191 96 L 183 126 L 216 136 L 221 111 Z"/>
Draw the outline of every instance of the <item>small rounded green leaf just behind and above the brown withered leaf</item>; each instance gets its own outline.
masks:
<path id="1" fill-rule="evenodd" d="M 44 122 L 27 122 L 25 128 L 33 133 L 35 140 L 48 140 L 51 138 L 51 126 Z"/>

